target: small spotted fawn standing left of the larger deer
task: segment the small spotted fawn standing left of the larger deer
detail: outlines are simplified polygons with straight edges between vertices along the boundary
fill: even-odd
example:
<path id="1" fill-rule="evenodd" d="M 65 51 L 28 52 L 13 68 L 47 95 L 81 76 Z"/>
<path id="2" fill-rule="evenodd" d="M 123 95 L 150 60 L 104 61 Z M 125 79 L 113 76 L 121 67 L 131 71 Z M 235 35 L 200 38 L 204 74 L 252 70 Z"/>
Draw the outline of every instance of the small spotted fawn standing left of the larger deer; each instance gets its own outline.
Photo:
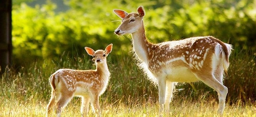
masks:
<path id="1" fill-rule="evenodd" d="M 98 116 L 100 113 L 99 97 L 106 90 L 110 72 L 107 66 L 107 56 L 112 51 L 112 44 L 105 50 L 94 51 L 85 47 L 86 52 L 94 57 L 95 70 L 74 70 L 59 69 L 50 76 L 52 95 L 47 106 L 47 115 L 53 106 L 57 106 L 57 116 L 60 116 L 61 109 L 64 108 L 73 96 L 82 98 L 81 114 L 89 111 L 89 102 Z M 56 101 L 56 102 L 55 102 Z M 46 115 L 46 116 L 47 116 Z"/>

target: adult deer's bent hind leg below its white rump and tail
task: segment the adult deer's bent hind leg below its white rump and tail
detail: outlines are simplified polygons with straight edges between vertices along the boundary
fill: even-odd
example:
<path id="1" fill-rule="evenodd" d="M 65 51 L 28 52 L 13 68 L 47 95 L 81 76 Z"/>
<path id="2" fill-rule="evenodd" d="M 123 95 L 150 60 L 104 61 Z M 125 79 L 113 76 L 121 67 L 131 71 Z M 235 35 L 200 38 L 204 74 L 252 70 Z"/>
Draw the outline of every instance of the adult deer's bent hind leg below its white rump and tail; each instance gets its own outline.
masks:
<path id="1" fill-rule="evenodd" d="M 217 91 L 219 95 L 219 107 L 218 107 L 218 114 L 222 115 L 223 110 L 225 108 L 225 99 L 226 95 L 228 94 L 228 88 L 225 87 L 222 83 L 220 83 L 214 76 L 214 74 L 211 73 L 198 73 L 196 76 L 205 84 L 207 84 L 209 87 L 213 88 L 215 91 Z"/>

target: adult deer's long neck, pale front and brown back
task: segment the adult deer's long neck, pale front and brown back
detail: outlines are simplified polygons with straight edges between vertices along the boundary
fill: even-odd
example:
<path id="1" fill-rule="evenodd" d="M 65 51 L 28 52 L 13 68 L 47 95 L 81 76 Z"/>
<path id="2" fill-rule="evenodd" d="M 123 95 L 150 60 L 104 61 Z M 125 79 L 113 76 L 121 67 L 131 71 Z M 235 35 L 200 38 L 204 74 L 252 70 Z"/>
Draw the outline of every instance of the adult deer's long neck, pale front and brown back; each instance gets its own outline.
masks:
<path id="1" fill-rule="evenodd" d="M 137 32 L 132 33 L 133 49 L 135 54 L 143 62 L 148 63 L 150 48 L 153 44 L 149 43 L 145 36 L 145 29 L 142 20 L 142 26 Z"/>

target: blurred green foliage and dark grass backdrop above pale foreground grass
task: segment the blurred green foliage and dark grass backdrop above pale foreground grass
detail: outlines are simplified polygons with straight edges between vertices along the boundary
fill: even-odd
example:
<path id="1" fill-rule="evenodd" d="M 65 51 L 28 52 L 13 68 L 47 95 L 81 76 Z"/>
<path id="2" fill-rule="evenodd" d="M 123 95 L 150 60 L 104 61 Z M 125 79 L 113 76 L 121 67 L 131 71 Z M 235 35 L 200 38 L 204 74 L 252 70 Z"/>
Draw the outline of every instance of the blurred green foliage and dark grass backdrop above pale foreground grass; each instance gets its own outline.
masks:
<path id="1" fill-rule="evenodd" d="M 114 34 L 121 19 L 113 9 L 130 13 L 138 6 L 144 6 L 152 43 L 212 35 L 232 44 L 224 81 L 228 104 L 256 101 L 256 0 L 12 0 L 12 65 L 2 75 L 0 95 L 47 103 L 50 74 L 59 68 L 94 69 L 84 47 L 105 49 L 112 43 L 112 78 L 102 99 L 158 101 L 157 88 L 132 59 L 130 35 Z M 217 93 L 200 82 L 180 83 L 175 97 L 218 100 Z"/>

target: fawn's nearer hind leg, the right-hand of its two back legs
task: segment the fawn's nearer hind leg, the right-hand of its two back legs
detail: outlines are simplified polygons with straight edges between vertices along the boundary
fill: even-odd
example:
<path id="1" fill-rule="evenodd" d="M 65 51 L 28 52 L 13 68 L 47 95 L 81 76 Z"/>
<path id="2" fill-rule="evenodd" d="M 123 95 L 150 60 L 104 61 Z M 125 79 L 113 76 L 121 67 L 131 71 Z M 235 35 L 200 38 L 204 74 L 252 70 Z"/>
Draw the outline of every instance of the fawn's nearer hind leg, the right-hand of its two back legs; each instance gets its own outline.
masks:
<path id="1" fill-rule="evenodd" d="M 60 98 L 59 100 L 57 101 L 57 116 L 60 117 L 60 114 L 62 112 L 62 108 L 64 108 L 68 102 L 73 98 L 73 93 L 70 94 L 70 93 L 62 93 L 60 95 Z"/>

